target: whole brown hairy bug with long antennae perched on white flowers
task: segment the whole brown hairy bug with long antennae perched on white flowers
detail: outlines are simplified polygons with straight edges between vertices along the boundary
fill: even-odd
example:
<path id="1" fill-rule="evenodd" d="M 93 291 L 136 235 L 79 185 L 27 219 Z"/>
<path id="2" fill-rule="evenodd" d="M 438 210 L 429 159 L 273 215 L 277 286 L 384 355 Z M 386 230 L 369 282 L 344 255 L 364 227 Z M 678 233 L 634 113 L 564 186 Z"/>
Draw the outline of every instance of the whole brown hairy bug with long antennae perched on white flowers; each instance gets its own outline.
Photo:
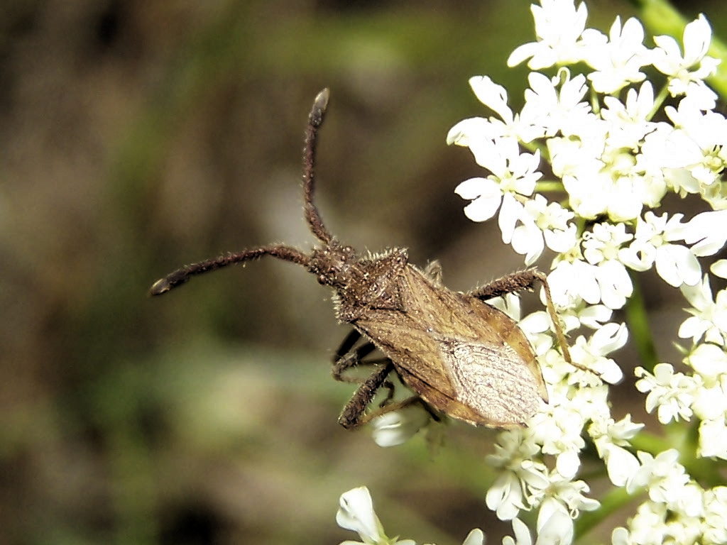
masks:
<path id="1" fill-rule="evenodd" d="M 297 263 L 316 275 L 319 283 L 334 288 L 336 316 L 353 326 L 336 352 L 334 378 L 354 382 L 345 371 L 364 364 L 375 368 L 343 408 L 338 419 L 343 427 L 357 427 L 373 416 L 419 400 L 434 411 L 470 424 L 523 425 L 537 412 L 540 400 L 547 403 L 545 382 L 518 324 L 485 301 L 541 282 L 563 356 L 570 362 L 545 275 L 522 270 L 462 293 L 442 285 L 437 262 L 425 270 L 411 265 L 406 249 L 362 256 L 338 242 L 313 203 L 318 129 L 328 101 L 328 89 L 316 96 L 308 116 L 303 156 L 305 219 L 321 245 L 310 254 L 284 245 L 261 246 L 185 265 L 157 280 L 150 294 L 164 294 L 194 275 L 266 255 Z M 368 342 L 360 344 L 361 336 Z M 376 348 L 385 358 L 364 360 Z M 392 373 L 416 395 L 393 402 L 393 384 L 387 379 Z M 366 413 L 381 387 L 390 390 L 382 408 Z"/>

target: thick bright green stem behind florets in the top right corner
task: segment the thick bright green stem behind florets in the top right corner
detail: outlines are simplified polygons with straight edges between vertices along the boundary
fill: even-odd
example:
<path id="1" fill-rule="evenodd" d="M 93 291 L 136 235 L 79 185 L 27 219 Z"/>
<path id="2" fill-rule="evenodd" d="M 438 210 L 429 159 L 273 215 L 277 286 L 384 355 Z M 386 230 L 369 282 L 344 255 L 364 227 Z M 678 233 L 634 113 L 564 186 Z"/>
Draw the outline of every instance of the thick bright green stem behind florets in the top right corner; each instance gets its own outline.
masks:
<path id="1" fill-rule="evenodd" d="M 632 0 L 632 3 L 640 8 L 640 19 L 651 34 L 669 34 L 681 42 L 684 27 L 689 21 L 672 4 L 666 0 Z M 707 78 L 707 81 L 721 97 L 727 97 L 727 46 L 715 38 L 714 34 L 709 55 L 722 60 L 722 63 L 717 73 Z"/>

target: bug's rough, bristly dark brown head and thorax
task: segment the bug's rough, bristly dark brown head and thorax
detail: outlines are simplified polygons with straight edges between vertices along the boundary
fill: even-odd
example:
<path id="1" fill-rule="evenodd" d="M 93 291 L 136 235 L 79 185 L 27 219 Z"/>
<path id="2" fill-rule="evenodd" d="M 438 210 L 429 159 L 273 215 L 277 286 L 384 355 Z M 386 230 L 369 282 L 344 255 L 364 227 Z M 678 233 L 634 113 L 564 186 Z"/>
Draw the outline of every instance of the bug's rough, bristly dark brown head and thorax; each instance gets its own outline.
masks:
<path id="1" fill-rule="evenodd" d="M 353 322 L 371 308 L 401 308 L 399 283 L 409 256 L 406 249 L 360 257 L 350 246 L 333 242 L 313 250 L 309 270 L 336 293 L 336 315 Z"/>

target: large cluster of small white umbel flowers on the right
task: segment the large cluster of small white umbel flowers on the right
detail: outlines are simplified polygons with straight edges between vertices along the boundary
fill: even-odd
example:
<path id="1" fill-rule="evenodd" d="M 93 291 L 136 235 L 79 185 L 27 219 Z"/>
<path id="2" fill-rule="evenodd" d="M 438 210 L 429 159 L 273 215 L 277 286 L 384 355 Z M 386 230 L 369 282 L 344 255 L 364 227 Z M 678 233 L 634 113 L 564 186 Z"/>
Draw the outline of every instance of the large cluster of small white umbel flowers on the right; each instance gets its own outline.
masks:
<path id="1" fill-rule="evenodd" d="M 727 278 L 727 260 L 702 269 L 727 241 L 727 120 L 705 81 L 719 64 L 707 54 L 712 29 L 699 15 L 681 39 L 647 39 L 633 17 L 616 17 L 608 33 L 588 28 L 583 2 L 541 0 L 531 12 L 535 39 L 507 60 L 531 70 L 523 107 L 513 110 L 489 76 L 470 78 L 483 114 L 454 125 L 447 142 L 468 148 L 483 171 L 455 191 L 473 221 L 497 218 L 525 265 L 555 254 L 539 267 L 550 269 L 574 363 L 594 373 L 563 360 L 545 312 L 521 318 L 516 297 L 492 302 L 529 336 L 550 402 L 527 427 L 499 433 L 485 459 L 497 476 L 484 501 L 513 525 L 504 544 L 569 544 L 582 537 L 574 525 L 582 512 L 606 517 L 590 491 L 602 475 L 608 512 L 630 506 L 614 544 L 726 543 L 727 290 L 712 285 Z M 659 210 L 667 195 L 699 201 L 702 211 Z M 670 424 L 666 440 L 630 415 L 614 418 L 606 384 L 622 376 L 613 353 L 630 334 L 648 335 L 613 321 L 614 310 L 639 304 L 635 283 L 648 270 L 687 307 L 672 332 L 688 342 L 680 362 L 624 369 L 635 372 L 646 411 Z M 374 435 L 395 445 L 424 426 L 412 410 L 374 420 Z M 601 468 L 591 463 L 588 480 L 580 476 L 587 453 Z M 537 514 L 521 518 L 526 512 Z M 390 542 L 352 529 L 365 543 Z M 470 539 L 479 544 L 480 533 Z"/>

